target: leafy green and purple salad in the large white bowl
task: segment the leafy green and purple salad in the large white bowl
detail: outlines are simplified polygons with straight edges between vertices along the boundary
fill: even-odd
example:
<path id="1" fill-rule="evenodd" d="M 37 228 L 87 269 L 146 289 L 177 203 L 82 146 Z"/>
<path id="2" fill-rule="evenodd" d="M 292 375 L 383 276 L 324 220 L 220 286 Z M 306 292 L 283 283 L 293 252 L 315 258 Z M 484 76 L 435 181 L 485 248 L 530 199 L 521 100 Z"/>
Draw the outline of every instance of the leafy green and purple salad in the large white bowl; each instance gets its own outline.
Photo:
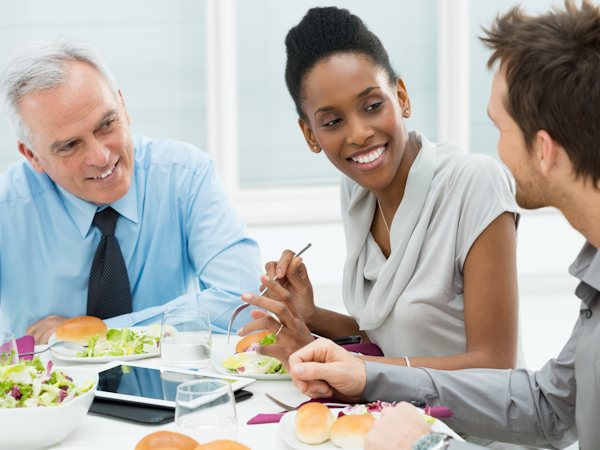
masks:
<path id="1" fill-rule="evenodd" d="M 73 379 L 52 369 L 52 361 L 44 367 L 39 356 L 32 361 L 12 364 L 15 353 L 0 364 L 0 409 L 33 408 L 63 405 L 94 386 L 88 380 L 77 387 Z"/>

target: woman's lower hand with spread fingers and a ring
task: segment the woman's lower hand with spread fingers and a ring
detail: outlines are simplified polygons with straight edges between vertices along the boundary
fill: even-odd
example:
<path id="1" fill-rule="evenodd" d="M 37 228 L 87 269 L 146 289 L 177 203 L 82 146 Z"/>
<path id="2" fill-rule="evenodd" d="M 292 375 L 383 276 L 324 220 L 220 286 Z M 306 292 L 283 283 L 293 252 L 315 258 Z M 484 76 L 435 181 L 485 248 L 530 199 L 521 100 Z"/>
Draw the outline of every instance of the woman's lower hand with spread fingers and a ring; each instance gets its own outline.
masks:
<path id="1" fill-rule="evenodd" d="M 254 331 L 269 330 L 277 336 L 275 344 L 262 345 L 257 353 L 279 359 L 289 372 L 289 356 L 314 341 L 314 337 L 304 323 L 304 319 L 296 309 L 292 294 L 267 275 L 260 280 L 269 288 L 271 298 L 261 297 L 258 294 L 246 292 L 242 300 L 251 305 L 258 306 L 277 316 L 279 321 L 264 311 L 252 311 L 254 322 L 250 322 L 238 331 L 240 336 L 246 336 Z"/>

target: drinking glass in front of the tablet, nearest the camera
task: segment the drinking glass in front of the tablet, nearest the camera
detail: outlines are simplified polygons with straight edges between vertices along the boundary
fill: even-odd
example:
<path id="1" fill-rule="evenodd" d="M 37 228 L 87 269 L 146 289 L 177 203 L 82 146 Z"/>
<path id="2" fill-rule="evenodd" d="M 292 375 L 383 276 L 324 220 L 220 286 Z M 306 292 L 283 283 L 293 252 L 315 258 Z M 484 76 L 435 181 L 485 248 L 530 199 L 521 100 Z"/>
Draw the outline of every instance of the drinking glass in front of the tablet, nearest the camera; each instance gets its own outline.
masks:
<path id="1" fill-rule="evenodd" d="M 237 414 L 231 385 L 220 380 L 196 380 L 177 387 L 175 431 L 200 444 L 237 441 Z"/>

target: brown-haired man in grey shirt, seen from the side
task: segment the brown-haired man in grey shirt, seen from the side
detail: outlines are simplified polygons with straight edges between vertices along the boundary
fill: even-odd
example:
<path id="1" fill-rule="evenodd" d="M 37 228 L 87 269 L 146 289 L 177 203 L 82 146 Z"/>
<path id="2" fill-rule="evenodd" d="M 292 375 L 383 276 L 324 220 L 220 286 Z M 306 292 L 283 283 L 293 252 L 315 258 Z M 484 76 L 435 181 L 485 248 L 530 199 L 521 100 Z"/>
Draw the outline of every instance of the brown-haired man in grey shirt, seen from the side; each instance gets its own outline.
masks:
<path id="1" fill-rule="evenodd" d="M 321 339 L 290 357 L 294 383 L 313 397 L 424 400 L 454 411 L 458 431 L 521 445 L 600 447 L 600 8 L 572 0 L 538 17 L 514 8 L 485 30 L 494 75 L 488 113 L 498 154 L 523 208 L 558 208 L 587 242 L 571 275 L 582 301 L 573 334 L 537 372 L 453 372 L 361 361 Z M 384 410 L 365 449 L 462 449 L 431 433 L 414 407 Z"/>

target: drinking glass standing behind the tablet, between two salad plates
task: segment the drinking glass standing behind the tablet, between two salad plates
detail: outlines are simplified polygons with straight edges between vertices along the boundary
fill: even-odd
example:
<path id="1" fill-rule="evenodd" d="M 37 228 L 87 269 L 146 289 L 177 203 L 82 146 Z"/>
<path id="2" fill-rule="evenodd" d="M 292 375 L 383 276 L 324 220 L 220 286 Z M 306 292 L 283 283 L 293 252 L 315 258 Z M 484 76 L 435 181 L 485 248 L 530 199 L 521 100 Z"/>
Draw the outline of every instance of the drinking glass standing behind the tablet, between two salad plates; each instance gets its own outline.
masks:
<path id="1" fill-rule="evenodd" d="M 162 315 L 160 336 L 163 366 L 179 369 L 208 366 L 212 335 L 207 310 L 194 306 L 167 309 Z"/>

